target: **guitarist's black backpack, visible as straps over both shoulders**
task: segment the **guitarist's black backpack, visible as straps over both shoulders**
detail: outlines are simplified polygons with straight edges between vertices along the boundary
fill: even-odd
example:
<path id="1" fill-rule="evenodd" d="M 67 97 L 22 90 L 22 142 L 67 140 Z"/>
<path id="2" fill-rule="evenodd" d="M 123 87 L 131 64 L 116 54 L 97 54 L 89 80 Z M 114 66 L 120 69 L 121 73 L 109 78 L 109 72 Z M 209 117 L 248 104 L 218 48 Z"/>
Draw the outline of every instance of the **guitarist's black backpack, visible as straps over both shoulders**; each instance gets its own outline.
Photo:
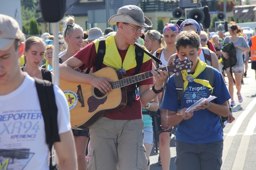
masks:
<path id="1" fill-rule="evenodd" d="M 101 69 L 102 63 L 103 63 L 103 59 L 106 53 L 106 43 L 105 43 L 106 38 L 102 38 L 99 40 L 99 47 L 98 47 L 98 51 L 97 51 L 97 59 L 96 59 L 96 63 L 95 63 L 95 68 L 96 71 Z M 135 73 L 134 75 L 137 75 L 139 73 L 139 69 L 141 68 L 142 64 L 143 64 L 143 57 L 144 57 L 144 51 L 141 51 L 141 48 L 139 45 L 135 46 L 135 59 L 136 59 L 136 67 L 135 67 Z M 137 93 L 137 84 L 133 84 L 133 91 L 131 91 L 130 93 L 127 93 L 127 96 L 130 97 L 132 96 L 133 101 L 136 99 L 136 93 Z M 130 102 L 127 102 L 128 105 L 131 106 Z"/>

